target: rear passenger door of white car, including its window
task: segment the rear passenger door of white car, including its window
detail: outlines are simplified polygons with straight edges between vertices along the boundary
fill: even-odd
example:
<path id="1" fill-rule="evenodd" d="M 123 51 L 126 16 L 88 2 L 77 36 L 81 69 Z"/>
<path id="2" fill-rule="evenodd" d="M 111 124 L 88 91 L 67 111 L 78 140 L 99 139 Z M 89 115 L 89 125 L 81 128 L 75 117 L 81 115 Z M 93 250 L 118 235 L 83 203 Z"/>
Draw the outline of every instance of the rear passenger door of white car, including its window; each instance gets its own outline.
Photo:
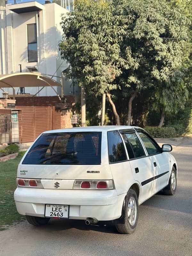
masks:
<path id="1" fill-rule="evenodd" d="M 136 133 L 121 131 L 121 135 L 125 142 L 134 179 L 141 186 L 140 202 L 143 202 L 152 195 L 153 167 Z"/>

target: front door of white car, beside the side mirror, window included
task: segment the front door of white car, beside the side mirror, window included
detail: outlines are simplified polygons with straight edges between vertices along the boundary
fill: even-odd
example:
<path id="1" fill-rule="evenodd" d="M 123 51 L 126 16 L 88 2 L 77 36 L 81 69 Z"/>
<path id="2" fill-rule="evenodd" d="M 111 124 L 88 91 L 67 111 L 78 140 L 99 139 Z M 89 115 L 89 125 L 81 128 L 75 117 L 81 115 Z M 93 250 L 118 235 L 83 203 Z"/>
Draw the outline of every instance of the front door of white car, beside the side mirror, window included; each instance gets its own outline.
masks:
<path id="1" fill-rule="evenodd" d="M 162 152 L 156 141 L 150 137 L 146 132 L 137 129 L 138 135 L 142 140 L 154 172 L 154 187 L 152 193 L 164 188 L 169 180 L 169 159 L 166 152 Z"/>

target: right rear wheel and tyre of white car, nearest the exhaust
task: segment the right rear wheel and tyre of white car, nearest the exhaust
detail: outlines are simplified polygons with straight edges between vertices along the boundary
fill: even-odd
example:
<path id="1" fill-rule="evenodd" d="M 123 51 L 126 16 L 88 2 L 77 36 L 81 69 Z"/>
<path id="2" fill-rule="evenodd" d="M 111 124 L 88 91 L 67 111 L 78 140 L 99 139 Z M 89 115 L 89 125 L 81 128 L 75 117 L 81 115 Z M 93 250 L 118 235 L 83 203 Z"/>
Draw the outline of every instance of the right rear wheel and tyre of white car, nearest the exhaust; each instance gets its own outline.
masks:
<path id="1" fill-rule="evenodd" d="M 138 211 L 139 204 L 137 194 L 133 189 L 130 189 L 127 192 L 126 200 L 125 200 L 125 207 L 124 207 L 124 216 L 125 216 L 125 223 L 119 224 L 117 223 L 116 229 L 121 234 L 132 234 L 138 222 Z"/>

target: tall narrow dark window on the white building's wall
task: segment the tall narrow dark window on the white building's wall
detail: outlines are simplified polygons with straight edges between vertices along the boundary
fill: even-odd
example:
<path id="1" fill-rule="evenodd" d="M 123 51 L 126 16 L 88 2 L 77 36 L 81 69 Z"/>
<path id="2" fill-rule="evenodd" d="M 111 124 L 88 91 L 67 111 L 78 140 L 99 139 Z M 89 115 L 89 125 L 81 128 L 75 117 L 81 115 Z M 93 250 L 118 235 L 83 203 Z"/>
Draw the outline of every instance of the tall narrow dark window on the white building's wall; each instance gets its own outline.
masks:
<path id="1" fill-rule="evenodd" d="M 27 25 L 28 62 L 37 62 L 37 28 L 36 24 Z"/>

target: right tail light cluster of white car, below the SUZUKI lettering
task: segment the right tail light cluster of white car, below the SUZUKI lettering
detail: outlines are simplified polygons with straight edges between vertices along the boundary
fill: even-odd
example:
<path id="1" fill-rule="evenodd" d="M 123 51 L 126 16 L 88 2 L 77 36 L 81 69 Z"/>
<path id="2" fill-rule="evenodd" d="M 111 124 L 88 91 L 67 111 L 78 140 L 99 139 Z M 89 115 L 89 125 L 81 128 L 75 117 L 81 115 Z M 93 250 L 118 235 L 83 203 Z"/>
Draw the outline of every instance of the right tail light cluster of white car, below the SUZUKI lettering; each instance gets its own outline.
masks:
<path id="1" fill-rule="evenodd" d="M 115 185 L 113 180 L 75 180 L 73 189 L 111 190 Z"/>

